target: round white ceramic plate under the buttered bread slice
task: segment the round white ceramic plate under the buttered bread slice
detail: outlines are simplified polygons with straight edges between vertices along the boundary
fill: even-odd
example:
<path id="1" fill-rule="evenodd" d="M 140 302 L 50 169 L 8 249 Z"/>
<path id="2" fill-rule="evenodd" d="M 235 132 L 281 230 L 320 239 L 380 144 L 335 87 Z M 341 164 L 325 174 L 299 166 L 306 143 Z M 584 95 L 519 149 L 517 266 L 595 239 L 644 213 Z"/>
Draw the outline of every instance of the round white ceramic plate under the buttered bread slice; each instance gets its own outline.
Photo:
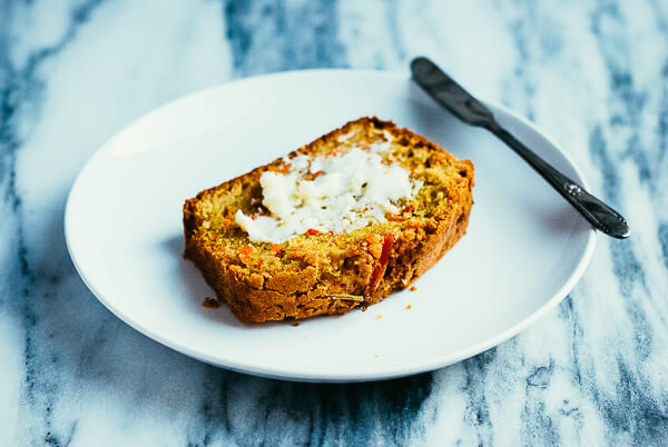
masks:
<path id="1" fill-rule="evenodd" d="M 586 185 L 530 122 L 490 107 L 529 147 Z M 373 115 L 473 160 L 469 234 L 415 282 L 416 291 L 366 311 L 295 327 L 244 325 L 226 307 L 204 308 L 214 292 L 181 258 L 184 200 Z M 313 381 L 405 376 L 495 346 L 568 294 L 595 246 L 591 227 L 503 143 L 456 121 L 406 76 L 352 70 L 230 82 L 146 115 L 86 165 L 65 230 L 87 286 L 137 330 L 225 368 Z"/>

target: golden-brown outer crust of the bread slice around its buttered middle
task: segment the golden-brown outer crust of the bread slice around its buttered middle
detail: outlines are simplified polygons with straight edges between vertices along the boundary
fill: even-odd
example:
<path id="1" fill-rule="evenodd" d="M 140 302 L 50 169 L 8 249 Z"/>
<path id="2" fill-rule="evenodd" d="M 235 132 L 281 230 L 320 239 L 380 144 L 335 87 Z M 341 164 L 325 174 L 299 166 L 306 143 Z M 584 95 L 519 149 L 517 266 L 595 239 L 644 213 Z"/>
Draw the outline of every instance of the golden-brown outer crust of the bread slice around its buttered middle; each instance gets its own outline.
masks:
<path id="1" fill-rule="evenodd" d="M 307 318 L 375 304 L 392 291 L 410 286 L 465 234 L 473 202 L 473 163 L 456 160 L 441 147 L 407 129 L 399 129 L 393 122 L 375 117 L 351 121 L 291 152 L 287 158 L 298 153 L 325 155 L 332 142 L 348 135 L 351 129 L 376 133 L 379 129 L 389 130 L 399 145 L 428 153 L 428 165 L 433 162 L 436 169 L 443 166 L 443 170 L 449 170 L 448 188 L 440 191 L 443 197 L 439 196 L 440 201 L 425 216 L 409 216 L 376 226 L 364 234 L 366 237 L 357 235 L 351 239 L 353 244 L 320 235 L 284 242 L 278 252 L 266 244 L 247 242 L 245 249 L 252 255 L 246 255 L 239 254 L 244 248 L 239 248 L 238 241 L 244 240 L 244 236 L 234 234 L 235 229 L 225 230 L 220 238 L 212 237 L 214 230 L 206 227 L 210 217 L 204 210 L 212 212 L 212 203 L 220 197 L 252 195 L 248 191 L 258 193 L 262 172 L 284 168 L 284 159 L 199 192 L 184 205 L 185 257 L 195 262 L 218 298 L 239 320 Z M 224 210 L 216 212 L 220 215 Z M 327 248 L 321 250 L 321 246 Z M 276 255 L 275 259 L 272 254 Z M 364 302 L 341 295 L 364 296 Z"/>

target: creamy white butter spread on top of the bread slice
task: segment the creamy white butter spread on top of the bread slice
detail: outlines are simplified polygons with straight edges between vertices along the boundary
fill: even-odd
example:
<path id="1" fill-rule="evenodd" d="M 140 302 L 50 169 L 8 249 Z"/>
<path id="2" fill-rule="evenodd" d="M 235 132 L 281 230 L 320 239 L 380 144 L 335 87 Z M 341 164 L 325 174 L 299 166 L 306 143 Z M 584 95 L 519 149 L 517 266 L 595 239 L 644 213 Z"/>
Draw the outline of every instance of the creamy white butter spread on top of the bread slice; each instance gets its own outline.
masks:
<path id="1" fill-rule="evenodd" d="M 334 234 L 384 221 L 397 213 L 396 202 L 410 199 L 422 187 L 397 165 L 384 165 L 379 153 L 390 141 L 353 147 L 334 157 L 297 156 L 286 160 L 287 172 L 264 172 L 259 178 L 263 205 L 269 216 L 247 216 L 240 210 L 236 222 L 250 241 L 283 242 L 306 231 Z"/>

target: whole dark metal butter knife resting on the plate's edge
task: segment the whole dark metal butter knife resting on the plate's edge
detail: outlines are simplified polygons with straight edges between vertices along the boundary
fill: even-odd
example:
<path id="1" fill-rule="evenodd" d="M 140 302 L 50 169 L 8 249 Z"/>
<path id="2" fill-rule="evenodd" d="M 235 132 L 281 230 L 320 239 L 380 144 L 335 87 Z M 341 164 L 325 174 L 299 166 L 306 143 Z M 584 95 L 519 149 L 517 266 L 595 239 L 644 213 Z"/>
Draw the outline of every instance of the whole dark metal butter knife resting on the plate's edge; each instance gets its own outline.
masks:
<path id="1" fill-rule="evenodd" d="M 626 239 L 631 236 L 629 225 L 619 212 L 587 192 L 580 185 L 537 156 L 499 125 L 490 109 L 441 71 L 431 60 L 424 57 L 413 59 L 411 71 L 413 80 L 438 103 L 450 110 L 452 115 L 468 125 L 489 130 L 510 146 L 596 229 L 618 239 Z"/>

